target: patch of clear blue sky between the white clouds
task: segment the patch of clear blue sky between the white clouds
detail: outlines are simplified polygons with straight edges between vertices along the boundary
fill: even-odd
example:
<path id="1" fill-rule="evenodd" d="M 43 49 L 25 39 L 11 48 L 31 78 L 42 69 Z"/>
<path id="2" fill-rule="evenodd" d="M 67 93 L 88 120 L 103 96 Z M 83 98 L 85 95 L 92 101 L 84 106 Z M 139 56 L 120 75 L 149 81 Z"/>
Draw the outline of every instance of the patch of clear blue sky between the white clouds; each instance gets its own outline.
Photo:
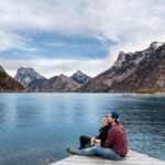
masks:
<path id="1" fill-rule="evenodd" d="M 106 58 L 109 55 L 109 47 L 114 45 L 109 40 L 99 41 L 87 35 L 31 32 L 22 34 L 22 37 L 29 40 L 29 48 L 3 50 L 0 52 L 0 56 L 6 59 L 99 59 Z"/>

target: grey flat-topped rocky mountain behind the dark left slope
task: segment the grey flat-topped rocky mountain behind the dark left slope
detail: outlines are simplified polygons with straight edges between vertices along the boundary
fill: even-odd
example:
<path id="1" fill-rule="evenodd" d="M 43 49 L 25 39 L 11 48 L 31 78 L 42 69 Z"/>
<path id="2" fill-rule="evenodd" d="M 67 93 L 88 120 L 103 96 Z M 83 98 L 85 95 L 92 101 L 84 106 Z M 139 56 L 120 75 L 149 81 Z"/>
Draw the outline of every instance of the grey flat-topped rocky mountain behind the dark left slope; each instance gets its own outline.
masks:
<path id="1" fill-rule="evenodd" d="M 41 76 L 33 68 L 21 67 L 18 69 L 14 79 L 28 88 L 33 80 L 43 80 L 46 78 Z"/>

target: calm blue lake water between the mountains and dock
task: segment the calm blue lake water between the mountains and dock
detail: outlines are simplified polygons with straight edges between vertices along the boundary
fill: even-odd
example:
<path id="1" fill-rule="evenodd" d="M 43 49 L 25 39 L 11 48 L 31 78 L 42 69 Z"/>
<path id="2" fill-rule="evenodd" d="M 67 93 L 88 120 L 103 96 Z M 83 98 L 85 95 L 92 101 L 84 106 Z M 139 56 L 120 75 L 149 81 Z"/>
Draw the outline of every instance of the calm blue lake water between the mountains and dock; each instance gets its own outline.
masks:
<path id="1" fill-rule="evenodd" d="M 165 98 L 110 94 L 1 94 L 0 165 L 44 165 L 68 156 L 81 134 L 119 109 L 130 147 L 165 161 Z"/>

